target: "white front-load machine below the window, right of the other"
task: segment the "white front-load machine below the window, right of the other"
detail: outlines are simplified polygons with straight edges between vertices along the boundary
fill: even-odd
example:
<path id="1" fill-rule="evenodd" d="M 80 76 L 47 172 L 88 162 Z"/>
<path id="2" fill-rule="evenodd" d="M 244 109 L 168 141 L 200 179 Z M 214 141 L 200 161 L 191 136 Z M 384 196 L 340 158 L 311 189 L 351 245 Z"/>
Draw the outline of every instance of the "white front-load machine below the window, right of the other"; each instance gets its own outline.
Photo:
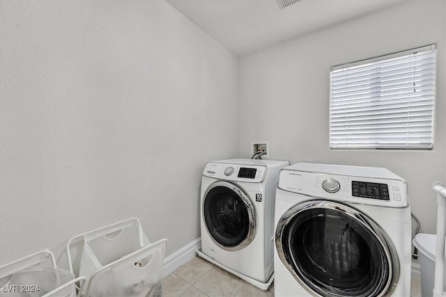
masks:
<path id="1" fill-rule="evenodd" d="M 410 240 L 406 182 L 389 170 L 280 171 L 275 296 L 410 296 Z"/>

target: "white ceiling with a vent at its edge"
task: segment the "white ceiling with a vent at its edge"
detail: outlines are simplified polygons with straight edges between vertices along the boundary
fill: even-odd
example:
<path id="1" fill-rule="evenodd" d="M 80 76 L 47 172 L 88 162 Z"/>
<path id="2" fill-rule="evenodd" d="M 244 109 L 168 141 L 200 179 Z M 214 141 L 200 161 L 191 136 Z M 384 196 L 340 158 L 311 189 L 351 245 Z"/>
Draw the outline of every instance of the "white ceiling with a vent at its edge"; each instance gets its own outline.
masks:
<path id="1" fill-rule="evenodd" d="M 237 56 L 405 0 L 166 0 Z"/>

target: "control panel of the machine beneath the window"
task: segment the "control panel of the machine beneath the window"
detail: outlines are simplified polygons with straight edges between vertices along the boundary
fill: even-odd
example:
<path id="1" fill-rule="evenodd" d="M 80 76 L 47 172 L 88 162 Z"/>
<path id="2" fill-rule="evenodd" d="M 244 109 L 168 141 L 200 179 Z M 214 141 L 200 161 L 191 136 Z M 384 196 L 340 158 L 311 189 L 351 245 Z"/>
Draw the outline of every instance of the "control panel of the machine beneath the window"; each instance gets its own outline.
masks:
<path id="1" fill-rule="evenodd" d="M 310 198 L 385 207 L 406 207 L 407 186 L 403 179 L 350 176 L 283 169 L 278 188 Z"/>

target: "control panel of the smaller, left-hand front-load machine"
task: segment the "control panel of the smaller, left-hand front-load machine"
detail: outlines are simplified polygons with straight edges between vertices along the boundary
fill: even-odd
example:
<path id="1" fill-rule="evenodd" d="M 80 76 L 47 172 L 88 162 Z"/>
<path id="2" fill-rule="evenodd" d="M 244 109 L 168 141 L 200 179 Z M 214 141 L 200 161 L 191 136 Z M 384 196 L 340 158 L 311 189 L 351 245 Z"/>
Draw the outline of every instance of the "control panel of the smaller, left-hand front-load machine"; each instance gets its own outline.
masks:
<path id="1" fill-rule="evenodd" d="M 233 182 L 261 183 L 266 177 L 266 166 L 240 165 L 209 162 L 203 175 Z"/>

